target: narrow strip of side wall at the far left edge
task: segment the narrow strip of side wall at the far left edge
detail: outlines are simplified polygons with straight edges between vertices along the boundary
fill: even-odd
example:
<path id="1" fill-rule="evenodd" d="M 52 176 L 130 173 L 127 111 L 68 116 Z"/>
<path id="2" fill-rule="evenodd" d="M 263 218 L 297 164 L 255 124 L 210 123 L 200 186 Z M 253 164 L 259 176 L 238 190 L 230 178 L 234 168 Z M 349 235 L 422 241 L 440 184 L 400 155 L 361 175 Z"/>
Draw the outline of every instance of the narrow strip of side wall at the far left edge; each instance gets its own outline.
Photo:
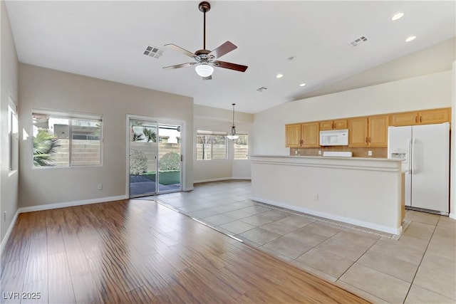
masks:
<path id="1" fill-rule="evenodd" d="M 0 2 L 0 10 L 0 241 L 3 248 L 5 235 L 19 208 L 19 174 L 9 172 L 8 143 L 8 104 L 11 99 L 17 105 L 18 100 L 18 58 L 4 1 Z M 5 211 L 6 220 L 4 220 Z"/>

